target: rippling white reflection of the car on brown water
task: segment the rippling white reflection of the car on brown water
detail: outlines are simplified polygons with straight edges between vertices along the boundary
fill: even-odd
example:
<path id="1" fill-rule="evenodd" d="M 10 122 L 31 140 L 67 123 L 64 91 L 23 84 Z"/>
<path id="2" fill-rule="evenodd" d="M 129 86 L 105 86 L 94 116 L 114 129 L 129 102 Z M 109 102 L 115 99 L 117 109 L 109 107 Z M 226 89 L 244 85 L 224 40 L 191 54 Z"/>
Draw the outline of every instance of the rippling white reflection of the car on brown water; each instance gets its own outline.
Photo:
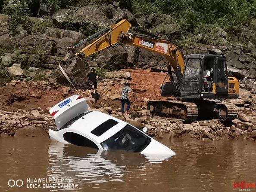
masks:
<path id="1" fill-rule="evenodd" d="M 101 151 L 51 141 L 48 148 L 48 177 L 65 177 L 79 183 L 123 182 L 126 165 L 143 170 L 145 164 L 161 163 L 171 155 L 143 155 L 132 152 Z"/>

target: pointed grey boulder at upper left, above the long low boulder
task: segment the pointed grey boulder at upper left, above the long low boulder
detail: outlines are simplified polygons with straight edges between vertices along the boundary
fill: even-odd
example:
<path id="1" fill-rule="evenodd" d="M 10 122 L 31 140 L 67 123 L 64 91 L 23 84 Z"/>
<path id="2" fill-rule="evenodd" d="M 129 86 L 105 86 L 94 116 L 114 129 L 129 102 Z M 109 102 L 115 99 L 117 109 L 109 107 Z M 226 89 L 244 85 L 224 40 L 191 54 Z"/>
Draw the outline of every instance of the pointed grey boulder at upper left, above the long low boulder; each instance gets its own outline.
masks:
<path id="1" fill-rule="evenodd" d="M 57 27 L 64 27 L 69 18 L 72 17 L 72 11 L 70 9 L 59 9 L 53 16 L 53 24 L 56 24 Z"/>

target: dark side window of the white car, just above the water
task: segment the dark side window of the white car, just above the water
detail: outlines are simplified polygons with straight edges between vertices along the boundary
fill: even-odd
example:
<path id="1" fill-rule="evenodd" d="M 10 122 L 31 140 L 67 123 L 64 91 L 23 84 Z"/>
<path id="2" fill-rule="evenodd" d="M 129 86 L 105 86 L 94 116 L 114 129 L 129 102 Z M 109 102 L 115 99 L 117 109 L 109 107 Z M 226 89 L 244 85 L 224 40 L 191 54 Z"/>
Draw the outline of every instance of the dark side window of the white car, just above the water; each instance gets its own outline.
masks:
<path id="1" fill-rule="evenodd" d="M 86 137 L 73 133 L 73 132 L 66 132 L 63 134 L 64 140 L 67 142 L 78 145 L 78 146 L 87 146 L 87 147 L 92 147 L 95 149 L 99 149 L 99 147 L 90 139 L 87 139 Z"/>

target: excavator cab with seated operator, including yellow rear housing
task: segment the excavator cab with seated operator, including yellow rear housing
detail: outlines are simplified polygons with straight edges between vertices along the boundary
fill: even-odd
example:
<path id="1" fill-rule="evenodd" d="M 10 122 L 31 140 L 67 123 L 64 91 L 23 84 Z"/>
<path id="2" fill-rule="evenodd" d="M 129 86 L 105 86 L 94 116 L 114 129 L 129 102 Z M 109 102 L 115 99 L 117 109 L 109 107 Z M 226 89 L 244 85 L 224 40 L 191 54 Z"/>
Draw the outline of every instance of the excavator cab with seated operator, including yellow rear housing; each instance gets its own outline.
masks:
<path id="1" fill-rule="evenodd" d="M 181 97 L 194 99 L 237 98 L 238 81 L 236 80 L 236 86 L 229 86 L 228 79 L 235 80 L 234 77 L 228 77 L 226 60 L 222 56 L 187 55 L 181 80 Z"/>

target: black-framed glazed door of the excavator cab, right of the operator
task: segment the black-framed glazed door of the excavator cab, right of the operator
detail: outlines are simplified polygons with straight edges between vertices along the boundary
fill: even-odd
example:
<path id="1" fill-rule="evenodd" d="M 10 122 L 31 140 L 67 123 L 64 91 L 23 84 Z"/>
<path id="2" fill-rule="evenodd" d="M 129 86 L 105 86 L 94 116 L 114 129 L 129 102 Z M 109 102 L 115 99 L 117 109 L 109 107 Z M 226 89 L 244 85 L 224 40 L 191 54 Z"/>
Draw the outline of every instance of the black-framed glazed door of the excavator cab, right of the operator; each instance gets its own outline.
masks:
<path id="1" fill-rule="evenodd" d="M 216 94 L 228 94 L 228 74 L 227 65 L 224 58 L 217 58 L 214 76 Z"/>

